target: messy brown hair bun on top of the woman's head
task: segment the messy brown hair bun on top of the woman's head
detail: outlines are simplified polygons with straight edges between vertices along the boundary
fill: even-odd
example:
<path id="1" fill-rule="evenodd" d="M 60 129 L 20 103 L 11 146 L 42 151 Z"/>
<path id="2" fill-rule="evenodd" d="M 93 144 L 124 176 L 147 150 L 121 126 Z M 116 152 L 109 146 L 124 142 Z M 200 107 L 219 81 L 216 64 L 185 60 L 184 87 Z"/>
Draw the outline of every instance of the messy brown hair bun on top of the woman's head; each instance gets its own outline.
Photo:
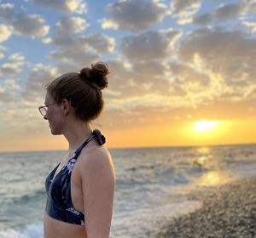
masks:
<path id="1" fill-rule="evenodd" d="M 97 62 L 91 65 L 91 68 L 83 68 L 80 71 L 80 77 L 85 81 L 90 83 L 96 88 L 103 89 L 108 87 L 108 65 L 103 62 Z"/>

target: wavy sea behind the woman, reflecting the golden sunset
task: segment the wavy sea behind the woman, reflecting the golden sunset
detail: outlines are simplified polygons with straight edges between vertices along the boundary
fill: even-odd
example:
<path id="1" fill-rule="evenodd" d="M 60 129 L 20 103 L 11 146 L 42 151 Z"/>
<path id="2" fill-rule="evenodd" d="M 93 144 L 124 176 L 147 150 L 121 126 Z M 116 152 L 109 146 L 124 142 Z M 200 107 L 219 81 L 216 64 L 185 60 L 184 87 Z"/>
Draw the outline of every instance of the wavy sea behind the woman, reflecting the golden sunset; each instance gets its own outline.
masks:
<path id="1" fill-rule="evenodd" d="M 202 206 L 189 193 L 256 176 L 256 144 L 110 150 L 116 188 L 110 237 L 157 237 Z M 43 238 L 44 180 L 64 150 L 0 153 L 0 238 Z"/>

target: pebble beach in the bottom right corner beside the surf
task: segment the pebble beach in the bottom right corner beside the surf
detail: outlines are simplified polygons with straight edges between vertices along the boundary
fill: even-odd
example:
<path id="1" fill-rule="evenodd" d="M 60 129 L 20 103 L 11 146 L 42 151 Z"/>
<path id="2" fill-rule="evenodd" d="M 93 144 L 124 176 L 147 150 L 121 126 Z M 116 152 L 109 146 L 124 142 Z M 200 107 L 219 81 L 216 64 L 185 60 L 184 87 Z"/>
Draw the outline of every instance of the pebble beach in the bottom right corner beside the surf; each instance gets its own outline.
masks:
<path id="1" fill-rule="evenodd" d="M 256 237 L 256 177 L 211 187 L 188 198 L 203 206 L 170 220 L 157 237 Z"/>

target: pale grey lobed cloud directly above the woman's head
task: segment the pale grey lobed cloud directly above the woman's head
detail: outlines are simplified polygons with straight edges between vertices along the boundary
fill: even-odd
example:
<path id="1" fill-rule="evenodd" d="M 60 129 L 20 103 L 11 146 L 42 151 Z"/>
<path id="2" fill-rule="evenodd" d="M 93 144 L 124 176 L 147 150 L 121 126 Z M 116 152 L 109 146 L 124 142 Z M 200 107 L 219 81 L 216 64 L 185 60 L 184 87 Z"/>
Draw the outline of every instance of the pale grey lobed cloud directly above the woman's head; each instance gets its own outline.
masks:
<path id="1" fill-rule="evenodd" d="M 55 25 L 53 37 L 44 39 L 44 43 L 57 48 L 49 53 L 49 58 L 58 60 L 61 64 L 76 65 L 79 70 L 99 60 L 100 55 L 113 52 L 113 37 L 102 33 L 78 34 L 87 26 L 86 21 L 79 17 L 62 18 Z"/>

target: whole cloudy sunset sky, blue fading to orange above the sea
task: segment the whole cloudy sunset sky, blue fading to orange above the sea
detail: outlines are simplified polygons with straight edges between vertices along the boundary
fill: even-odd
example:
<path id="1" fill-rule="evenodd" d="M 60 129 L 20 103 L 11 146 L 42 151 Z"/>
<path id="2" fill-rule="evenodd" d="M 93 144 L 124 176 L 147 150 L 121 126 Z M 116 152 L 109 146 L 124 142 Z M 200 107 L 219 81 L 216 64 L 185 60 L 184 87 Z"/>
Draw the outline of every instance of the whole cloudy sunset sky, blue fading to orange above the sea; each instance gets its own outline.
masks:
<path id="1" fill-rule="evenodd" d="M 0 151 L 63 150 L 45 85 L 110 68 L 109 148 L 256 142 L 255 0 L 0 1 Z"/>

